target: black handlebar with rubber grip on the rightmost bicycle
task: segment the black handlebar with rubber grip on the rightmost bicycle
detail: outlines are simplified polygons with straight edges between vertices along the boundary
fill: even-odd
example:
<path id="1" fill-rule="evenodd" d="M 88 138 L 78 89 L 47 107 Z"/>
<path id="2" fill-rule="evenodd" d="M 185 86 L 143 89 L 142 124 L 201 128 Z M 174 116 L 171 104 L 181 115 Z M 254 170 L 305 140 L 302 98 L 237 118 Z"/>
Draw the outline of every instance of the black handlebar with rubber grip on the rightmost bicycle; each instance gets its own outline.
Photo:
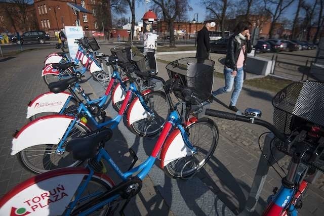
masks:
<path id="1" fill-rule="evenodd" d="M 285 142 L 287 140 L 287 136 L 285 134 L 282 134 L 281 132 L 278 131 L 275 126 L 265 120 L 257 119 L 254 117 L 248 117 L 248 116 L 243 116 L 243 115 L 236 115 L 234 113 L 229 113 L 229 112 L 223 112 L 223 111 L 218 111 L 218 110 L 213 110 L 213 109 L 206 109 L 206 115 L 218 117 L 218 118 L 224 118 L 224 119 L 229 119 L 229 120 L 238 120 L 238 121 L 243 121 L 243 122 L 248 122 L 252 124 L 258 124 L 261 126 L 264 126 L 268 128 L 274 136 L 279 138 L 281 141 Z"/>

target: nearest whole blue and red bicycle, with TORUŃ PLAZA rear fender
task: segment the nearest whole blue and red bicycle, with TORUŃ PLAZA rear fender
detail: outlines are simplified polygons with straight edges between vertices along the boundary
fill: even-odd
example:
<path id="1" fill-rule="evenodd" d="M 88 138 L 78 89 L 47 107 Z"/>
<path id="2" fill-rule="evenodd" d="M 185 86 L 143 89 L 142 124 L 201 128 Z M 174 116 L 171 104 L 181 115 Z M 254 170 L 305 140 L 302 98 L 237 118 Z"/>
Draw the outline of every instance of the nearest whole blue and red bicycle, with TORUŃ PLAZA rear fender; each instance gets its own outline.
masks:
<path id="1" fill-rule="evenodd" d="M 128 170 L 121 170 L 104 148 L 104 141 L 110 139 L 112 131 L 101 128 L 66 143 L 66 150 L 72 153 L 75 160 L 88 159 L 87 168 L 56 169 L 21 183 L 0 200 L 0 214 L 113 215 L 118 211 L 123 214 L 130 199 L 141 190 L 142 180 L 159 153 L 160 165 L 169 176 L 182 179 L 193 176 L 213 155 L 218 142 L 218 128 L 211 119 L 189 118 L 190 113 L 201 108 L 197 106 L 193 109 L 192 105 L 200 104 L 206 99 L 204 97 L 210 96 L 212 90 L 199 92 L 192 88 L 192 84 L 205 83 L 212 87 L 213 67 L 204 67 L 204 64 L 193 62 L 192 59 L 190 64 L 186 63 L 188 61 L 179 60 L 172 65 L 178 75 L 173 74 L 174 78 L 164 85 L 171 112 L 151 155 L 145 161 L 133 167 L 137 157 L 130 150 L 134 161 Z M 200 66 L 211 69 L 209 75 L 204 71 L 197 71 L 193 75 L 192 71 Z M 187 69 L 191 76 L 180 73 Z M 182 98 L 182 102 L 173 105 L 171 91 Z M 183 112 L 177 109 L 181 107 Z M 109 146 L 106 148 L 109 149 Z M 115 185 L 103 174 L 102 159 L 111 165 L 121 179 L 119 184 Z"/>

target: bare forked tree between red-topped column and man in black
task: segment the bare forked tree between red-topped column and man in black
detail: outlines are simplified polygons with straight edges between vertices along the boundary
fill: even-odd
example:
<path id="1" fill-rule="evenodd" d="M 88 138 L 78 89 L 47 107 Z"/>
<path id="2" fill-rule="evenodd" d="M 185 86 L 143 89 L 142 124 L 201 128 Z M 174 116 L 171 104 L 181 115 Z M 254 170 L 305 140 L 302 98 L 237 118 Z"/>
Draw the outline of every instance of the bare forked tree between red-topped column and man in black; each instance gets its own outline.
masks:
<path id="1" fill-rule="evenodd" d="M 187 0 L 152 0 L 157 6 L 161 8 L 163 19 L 167 22 L 170 32 L 170 47 L 175 46 L 174 39 L 174 21 L 179 15 L 183 15 L 189 10 Z"/>

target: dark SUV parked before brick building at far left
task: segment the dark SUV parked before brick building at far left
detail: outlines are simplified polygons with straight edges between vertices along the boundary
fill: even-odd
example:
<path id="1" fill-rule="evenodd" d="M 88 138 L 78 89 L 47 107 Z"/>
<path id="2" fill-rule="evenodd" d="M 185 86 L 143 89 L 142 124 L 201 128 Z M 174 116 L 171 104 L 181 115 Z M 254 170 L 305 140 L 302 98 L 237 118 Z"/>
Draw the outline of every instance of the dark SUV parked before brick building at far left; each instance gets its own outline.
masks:
<path id="1" fill-rule="evenodd" d="M 50 35 L 45 31 L 26 31 L 20 38 L 13 37 L 13 42 L 18 45 L 22 45 L 26 42 L 38 42 L 39 44 L 44 44 L 46 40 L 50 40 Z"/>

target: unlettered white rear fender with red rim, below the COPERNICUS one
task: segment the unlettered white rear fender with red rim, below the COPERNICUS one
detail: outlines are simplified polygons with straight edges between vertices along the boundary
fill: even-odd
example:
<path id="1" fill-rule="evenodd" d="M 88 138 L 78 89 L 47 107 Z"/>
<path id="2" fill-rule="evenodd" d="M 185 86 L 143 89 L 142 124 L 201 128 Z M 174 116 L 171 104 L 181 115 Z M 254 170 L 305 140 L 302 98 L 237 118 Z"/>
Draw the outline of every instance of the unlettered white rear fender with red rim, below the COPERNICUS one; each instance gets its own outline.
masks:
<path id="1" fill-rule="evenodd" d="M 74 117 L 66 115 L 47 115 L 30 121 L 12 140 L 10 154 L 15 155 L 25 148 L 39 144 L 57 145 L 73 119 Z"/>

